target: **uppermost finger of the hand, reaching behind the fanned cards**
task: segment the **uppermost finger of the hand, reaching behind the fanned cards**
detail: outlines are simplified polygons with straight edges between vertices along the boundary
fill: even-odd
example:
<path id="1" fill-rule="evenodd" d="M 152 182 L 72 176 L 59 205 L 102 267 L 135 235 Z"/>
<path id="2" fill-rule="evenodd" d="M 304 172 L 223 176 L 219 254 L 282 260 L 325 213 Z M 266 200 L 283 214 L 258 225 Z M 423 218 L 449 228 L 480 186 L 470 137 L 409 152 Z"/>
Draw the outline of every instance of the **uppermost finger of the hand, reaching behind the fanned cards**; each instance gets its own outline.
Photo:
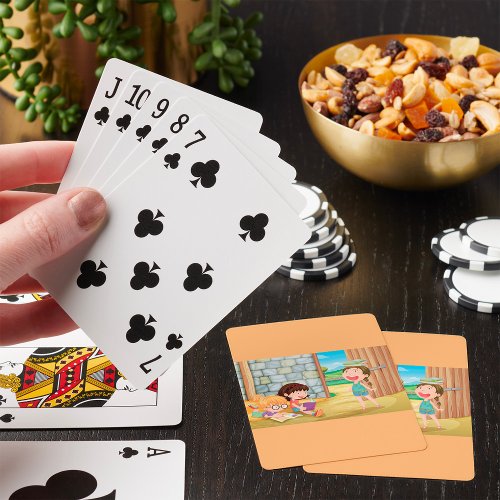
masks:
<path id="1" fill-rule="evenodd" d="M 0 146 L 0 190 L 60 182 L 75 143 L 33 141 Z"/>

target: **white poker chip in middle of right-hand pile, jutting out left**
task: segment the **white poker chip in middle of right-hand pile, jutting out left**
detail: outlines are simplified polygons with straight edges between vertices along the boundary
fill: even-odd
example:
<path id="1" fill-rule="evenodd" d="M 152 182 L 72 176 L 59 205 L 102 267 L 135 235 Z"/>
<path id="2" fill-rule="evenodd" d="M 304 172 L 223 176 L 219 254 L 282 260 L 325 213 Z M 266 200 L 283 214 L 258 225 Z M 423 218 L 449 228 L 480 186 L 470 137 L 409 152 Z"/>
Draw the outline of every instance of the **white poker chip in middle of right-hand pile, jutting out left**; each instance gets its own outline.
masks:
<path id="1" fill-rule="evenodd" d="M 460 231 L 447 229 L 432 238 L 432 253 L 445 264 L 472 271 L 500 270 L 500 258 L 475 252 L 462 244 Z"/>

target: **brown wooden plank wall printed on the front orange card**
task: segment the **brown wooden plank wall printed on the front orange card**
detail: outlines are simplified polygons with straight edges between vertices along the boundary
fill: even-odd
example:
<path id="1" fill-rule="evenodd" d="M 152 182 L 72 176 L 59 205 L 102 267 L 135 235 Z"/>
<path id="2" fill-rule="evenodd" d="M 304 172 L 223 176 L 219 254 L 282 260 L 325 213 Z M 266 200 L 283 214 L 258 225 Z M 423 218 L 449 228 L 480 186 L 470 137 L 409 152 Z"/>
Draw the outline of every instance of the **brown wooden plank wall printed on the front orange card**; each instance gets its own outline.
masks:
<path id="1" fill-rule="evenodd" d="M 404 390 L 403 382 L 399 378 L 387 346 L 362 347 L 359 349 L 345 349 L 347 359 L 365 359 L 371 369 L 377 366 L 385 368 L 372 370 L 370 382 L 375 388 L 375 397 L 388 396 Z"/>

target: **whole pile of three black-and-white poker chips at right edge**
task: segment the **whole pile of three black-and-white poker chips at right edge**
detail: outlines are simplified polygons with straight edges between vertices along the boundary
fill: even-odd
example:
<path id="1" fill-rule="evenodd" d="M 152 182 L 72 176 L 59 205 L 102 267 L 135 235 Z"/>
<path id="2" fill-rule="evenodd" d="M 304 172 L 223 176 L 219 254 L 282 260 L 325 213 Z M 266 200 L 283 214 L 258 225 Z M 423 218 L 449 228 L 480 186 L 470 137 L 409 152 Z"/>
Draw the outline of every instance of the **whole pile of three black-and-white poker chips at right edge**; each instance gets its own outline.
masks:
<path id="1" fill-rule="evenodd" d="M 476 217 L 442 231 L 431 249 L 449 265 L 443 281 L 451 300 L 473 311 L 500 313 L 500 217 Z"/>

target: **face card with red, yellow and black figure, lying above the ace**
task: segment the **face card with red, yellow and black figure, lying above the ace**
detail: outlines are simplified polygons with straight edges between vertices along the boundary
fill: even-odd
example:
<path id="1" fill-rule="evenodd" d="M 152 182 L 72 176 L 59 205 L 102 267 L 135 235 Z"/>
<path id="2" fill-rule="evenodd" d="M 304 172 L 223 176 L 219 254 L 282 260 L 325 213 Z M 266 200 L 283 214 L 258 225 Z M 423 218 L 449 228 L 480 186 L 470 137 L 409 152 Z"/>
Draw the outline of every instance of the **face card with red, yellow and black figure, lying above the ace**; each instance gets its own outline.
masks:
<path id="1" fill-rule="evenodd" d="M 43 296 L 0 299 L 23 304 Z M 136 390 L 82 330 L 0 347 L 0 429 L 163 426 L 181 419 L 182 359 Z"/>

